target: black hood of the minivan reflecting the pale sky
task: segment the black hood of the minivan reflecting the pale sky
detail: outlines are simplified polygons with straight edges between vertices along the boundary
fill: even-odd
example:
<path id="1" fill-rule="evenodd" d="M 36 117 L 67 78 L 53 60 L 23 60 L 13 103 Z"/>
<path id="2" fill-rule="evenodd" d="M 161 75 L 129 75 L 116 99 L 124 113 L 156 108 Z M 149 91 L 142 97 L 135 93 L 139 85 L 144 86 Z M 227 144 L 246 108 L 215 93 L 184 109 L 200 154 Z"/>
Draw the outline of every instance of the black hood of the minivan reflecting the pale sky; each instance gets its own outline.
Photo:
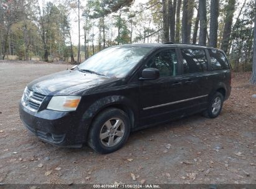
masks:
<path id="1" fill-rule="evenodd" d="M 69 95 L 75 91 L 92 88 L 110 81 L 113 81 L 113 78 L 83 73 L 78 70 L 65 70 L 34 80 L 27 87 L 46 96 Z"/>

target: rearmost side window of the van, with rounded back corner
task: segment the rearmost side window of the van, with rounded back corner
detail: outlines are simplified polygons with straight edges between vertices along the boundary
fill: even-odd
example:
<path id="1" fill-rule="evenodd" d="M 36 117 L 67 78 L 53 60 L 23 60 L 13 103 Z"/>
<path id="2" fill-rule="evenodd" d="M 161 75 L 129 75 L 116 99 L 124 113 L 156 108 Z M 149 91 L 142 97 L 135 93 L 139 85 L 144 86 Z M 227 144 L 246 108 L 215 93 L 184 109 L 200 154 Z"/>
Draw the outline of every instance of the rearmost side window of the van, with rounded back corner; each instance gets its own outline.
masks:
<path id="1" fill-rule="evenodd" d="M 228 69 L 229 63 L 227 63 L 227 58 L 219 50 L 209 49 L 209 55 L 211 62 L 209 63 L 209 70 L 222 70 Z"/>

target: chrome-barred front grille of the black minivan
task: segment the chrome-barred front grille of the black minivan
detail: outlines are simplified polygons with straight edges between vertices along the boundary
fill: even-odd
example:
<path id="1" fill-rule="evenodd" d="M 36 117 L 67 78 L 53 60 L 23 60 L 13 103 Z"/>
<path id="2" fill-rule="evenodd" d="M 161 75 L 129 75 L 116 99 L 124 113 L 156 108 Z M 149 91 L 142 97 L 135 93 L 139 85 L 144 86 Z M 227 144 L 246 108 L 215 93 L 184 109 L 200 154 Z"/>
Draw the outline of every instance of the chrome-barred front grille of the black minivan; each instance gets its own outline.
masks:
<path id="1" fill-rule="evenodd" d="M 26 88 L 22 96 L 22 104 L 31 111 L 37 112 L 44 98 L 44 94 L 39 94 Z"/>

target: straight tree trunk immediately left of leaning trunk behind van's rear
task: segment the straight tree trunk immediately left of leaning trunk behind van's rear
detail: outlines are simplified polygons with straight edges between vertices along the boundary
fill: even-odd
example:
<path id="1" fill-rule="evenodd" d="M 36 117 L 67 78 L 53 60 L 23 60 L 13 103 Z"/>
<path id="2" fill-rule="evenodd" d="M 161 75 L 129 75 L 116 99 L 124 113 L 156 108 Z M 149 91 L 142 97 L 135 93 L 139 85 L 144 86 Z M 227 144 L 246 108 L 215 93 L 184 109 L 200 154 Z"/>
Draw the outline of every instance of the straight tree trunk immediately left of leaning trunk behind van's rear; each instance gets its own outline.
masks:
<path id="1" fill-rule="evenodd" d="M 218 17 L 219 17 L 219 0 L 211 0 L 211 20 L 210 20 L 210 36 L 209 45 L 217 47 L 218 39 Z"/>

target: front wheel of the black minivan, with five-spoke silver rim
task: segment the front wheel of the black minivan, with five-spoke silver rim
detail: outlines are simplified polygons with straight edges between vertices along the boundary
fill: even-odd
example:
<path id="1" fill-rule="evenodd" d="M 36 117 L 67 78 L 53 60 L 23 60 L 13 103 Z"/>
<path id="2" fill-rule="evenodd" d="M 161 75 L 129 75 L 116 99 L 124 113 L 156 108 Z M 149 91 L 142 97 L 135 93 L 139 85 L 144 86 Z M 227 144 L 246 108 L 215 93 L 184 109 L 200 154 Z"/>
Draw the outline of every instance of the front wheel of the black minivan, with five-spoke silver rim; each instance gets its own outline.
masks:
<path id="1" fill-rule="evenodd" d="M 127 141 L 130 125 L 130 120 L 124 111 L 108 108 L 98 114 L 93 121 L 89 131 L 88 145 L 100 154 L 114 152 Z"/>

